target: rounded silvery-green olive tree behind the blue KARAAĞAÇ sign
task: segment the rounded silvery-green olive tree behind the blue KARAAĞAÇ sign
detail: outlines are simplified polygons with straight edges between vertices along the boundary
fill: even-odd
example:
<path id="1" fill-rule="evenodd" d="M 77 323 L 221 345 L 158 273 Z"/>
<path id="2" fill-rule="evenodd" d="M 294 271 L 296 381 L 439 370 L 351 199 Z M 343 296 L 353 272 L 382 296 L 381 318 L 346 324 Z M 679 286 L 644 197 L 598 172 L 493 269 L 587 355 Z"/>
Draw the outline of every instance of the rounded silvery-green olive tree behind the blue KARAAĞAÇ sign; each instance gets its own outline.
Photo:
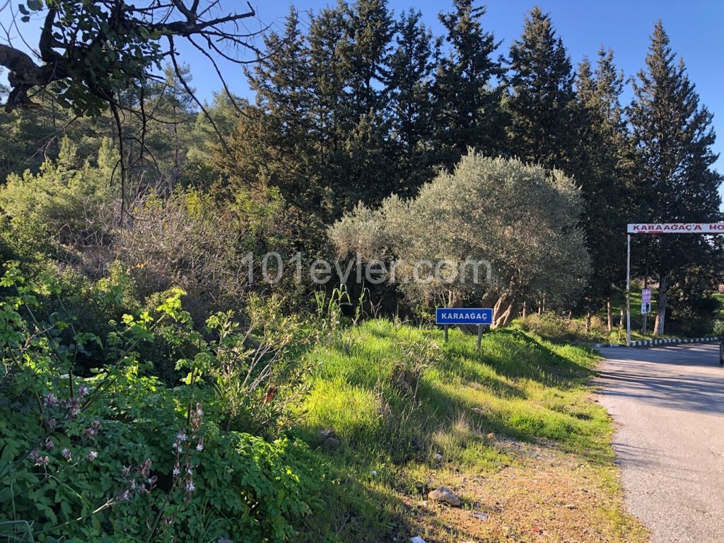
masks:
<path id="1" fill-rule="evenodd" d="M 590 271 L 580 213 L 562 173 L 468 150 L 416 198 L 357 206 L 329 237 L 341 258 L 387 263 L 411 302 L 490 304 L 497 327 L 526 301 L 563 306 L 580 294 Z"/>

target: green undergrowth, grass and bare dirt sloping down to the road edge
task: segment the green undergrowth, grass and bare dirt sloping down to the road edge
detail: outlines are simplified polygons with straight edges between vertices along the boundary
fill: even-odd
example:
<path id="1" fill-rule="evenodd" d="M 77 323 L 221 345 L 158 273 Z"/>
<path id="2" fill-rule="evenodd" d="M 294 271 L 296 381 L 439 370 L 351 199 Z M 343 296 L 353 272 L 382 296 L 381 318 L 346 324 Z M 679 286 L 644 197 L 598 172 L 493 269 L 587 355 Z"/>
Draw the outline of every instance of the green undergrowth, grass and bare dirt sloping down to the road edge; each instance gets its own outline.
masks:
<path id="1" fill-rule="evenodd" d="M 223 313 L 201 330 L 179 291 L 96 333 L 62 282 L 10 266 L 2 288 L 10 541 L 495 541 L 531 526 L 616 541 L 634 526 L 592 351 L 498 330 L 478 353 L 458 331 L 345 324 L 332 302 L 287 317 L 258 302 L 248 331 Z M 495 494 L 508 478 L 515 495 Z M 461 508 L 426 501 L 440 484 Z"/>

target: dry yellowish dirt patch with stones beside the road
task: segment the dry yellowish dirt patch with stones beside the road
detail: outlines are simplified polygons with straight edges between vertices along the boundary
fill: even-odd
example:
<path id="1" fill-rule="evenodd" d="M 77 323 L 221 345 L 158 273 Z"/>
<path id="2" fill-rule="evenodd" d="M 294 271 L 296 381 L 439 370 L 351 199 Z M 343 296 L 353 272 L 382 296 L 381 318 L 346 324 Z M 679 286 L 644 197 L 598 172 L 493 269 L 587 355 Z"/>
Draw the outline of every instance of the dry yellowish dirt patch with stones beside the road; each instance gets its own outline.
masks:
<path id="1" fill-rule="evenodd" d="M 641 523 L 623 511 L 613 466 L 581 463 L 547 447 L 501 446 L 516 460 L 497 473 L 442 468 L 424 481 L 450 487 L 463 500 L 461 508 L 405 497 L 418 530 L 410 535 L 427 543 L 649 541 Z"/>

